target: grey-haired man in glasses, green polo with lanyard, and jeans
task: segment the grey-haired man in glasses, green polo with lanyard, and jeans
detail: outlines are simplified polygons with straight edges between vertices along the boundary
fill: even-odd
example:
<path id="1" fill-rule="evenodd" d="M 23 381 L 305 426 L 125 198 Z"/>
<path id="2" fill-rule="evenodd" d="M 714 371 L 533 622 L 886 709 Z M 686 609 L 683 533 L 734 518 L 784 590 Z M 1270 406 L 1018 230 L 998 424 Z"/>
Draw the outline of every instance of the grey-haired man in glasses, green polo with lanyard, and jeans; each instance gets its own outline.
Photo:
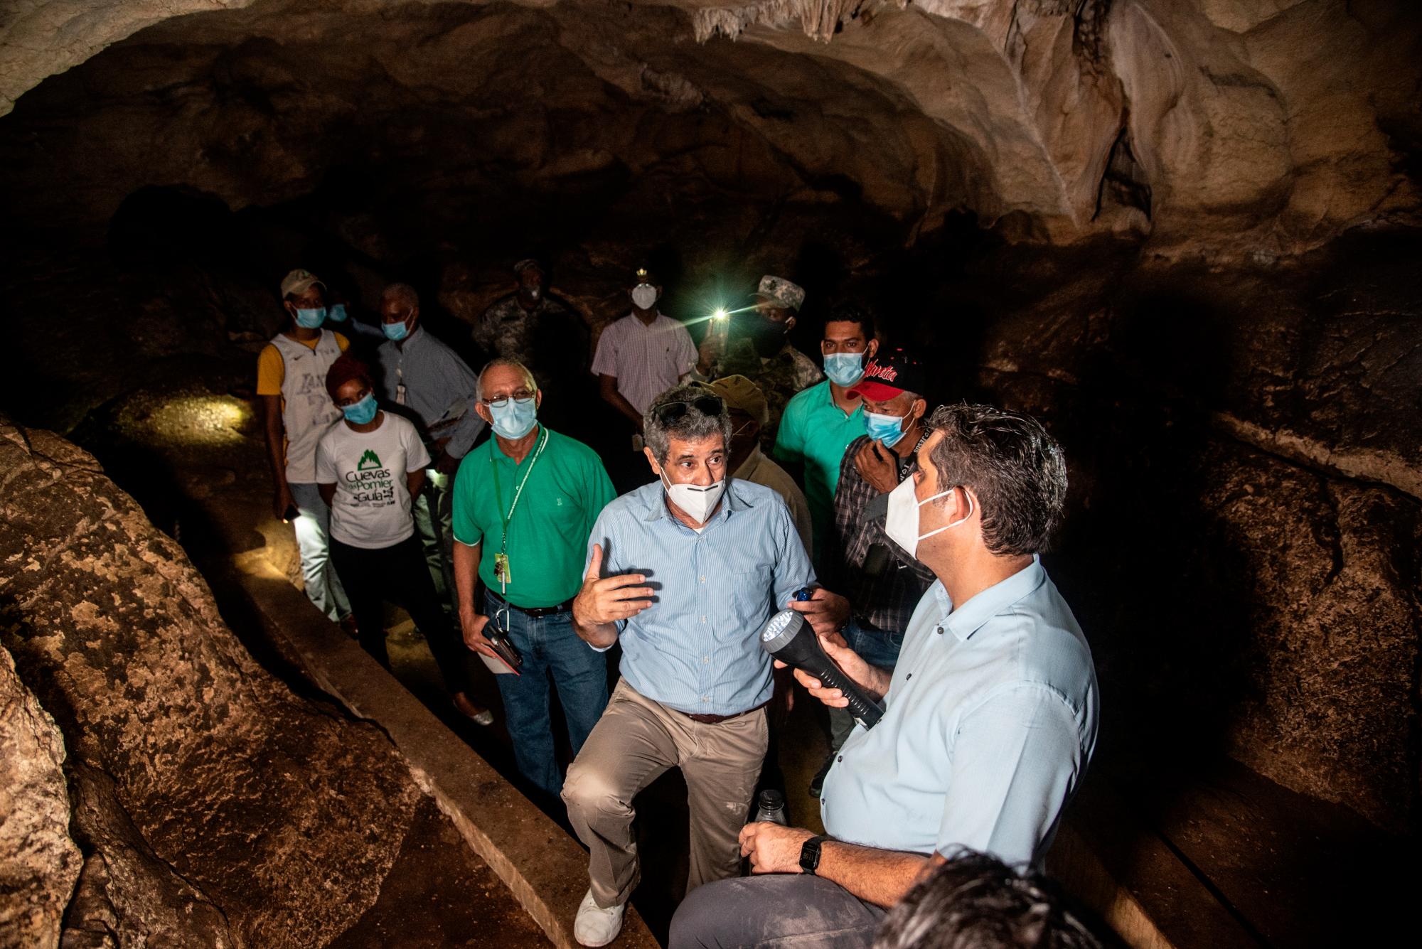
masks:
<path id="1" fill-rule="evenodd" d="M 572 604 L 587 536 L 616 493 L 590 448 L 538 423 L 542 401 L 520 362 L 495 359 L 479 375 L 475 411 L 493 436 L 464 456 L 455 479 L 454 575 L 465 645 L 506 671 L 483 635 L 492 622 L 523 659 L 495 679 L 519 771 L 556 798 L 563 770 L 549 673 L 574 756 L 607 705 L 607 659 L 573 632 Z"/>

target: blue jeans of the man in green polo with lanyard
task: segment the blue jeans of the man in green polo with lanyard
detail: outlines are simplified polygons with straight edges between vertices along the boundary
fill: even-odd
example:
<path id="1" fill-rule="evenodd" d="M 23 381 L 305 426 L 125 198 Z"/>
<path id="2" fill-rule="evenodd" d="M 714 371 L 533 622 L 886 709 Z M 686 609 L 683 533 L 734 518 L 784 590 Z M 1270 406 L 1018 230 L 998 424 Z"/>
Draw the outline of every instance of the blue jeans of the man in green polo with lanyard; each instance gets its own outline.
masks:
<path id="1" fill-rule="evenodd" d="M 547 676 L 552 673 L 557 686 L 557 700 L 567 719 L 567 740 L 577 757 L 607 707 L 607 656 L 577 638 L 572 612 L 533 618 L 505 607 L 489 592 L 483 595 L 483 611 L 489 622 L 501 624 L 501 629 L 508 617 L 509 639 L 523 656 L 520 675 L 493 676 L 503 696 L 513 760 L 523 777 L 557 797 L 563 791 L 563 769 L 553 757 Z"/>

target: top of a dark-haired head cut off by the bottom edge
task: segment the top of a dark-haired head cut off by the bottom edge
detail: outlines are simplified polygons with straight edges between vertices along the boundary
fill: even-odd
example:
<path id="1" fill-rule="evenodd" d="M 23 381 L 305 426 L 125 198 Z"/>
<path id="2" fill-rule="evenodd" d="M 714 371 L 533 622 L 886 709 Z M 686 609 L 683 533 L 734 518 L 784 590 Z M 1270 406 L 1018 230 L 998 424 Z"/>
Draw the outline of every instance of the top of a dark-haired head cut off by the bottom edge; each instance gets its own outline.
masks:
<path id="1" fill-rule="evenodd" d="M 873 949 L 1102 949 L 1044 877 L 975 851 L 948 857 L 884 916 Z"/>

